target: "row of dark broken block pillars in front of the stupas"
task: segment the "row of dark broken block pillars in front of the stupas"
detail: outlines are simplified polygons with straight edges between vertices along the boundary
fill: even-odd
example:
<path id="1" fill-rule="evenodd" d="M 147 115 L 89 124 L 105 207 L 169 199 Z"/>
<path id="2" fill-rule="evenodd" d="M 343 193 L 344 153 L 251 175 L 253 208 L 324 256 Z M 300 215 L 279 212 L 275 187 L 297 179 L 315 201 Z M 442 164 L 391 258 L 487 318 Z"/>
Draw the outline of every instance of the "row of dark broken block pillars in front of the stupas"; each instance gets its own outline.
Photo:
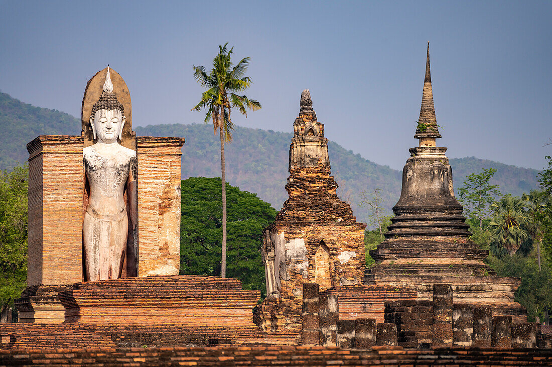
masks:
<path id="1" fill-rule="evenodd" d="M 385 303 L 385 321 L 339 320 L 338 300 L 303 285 L 302 345 L 366 349 L 373 346 L 546 348 L 537 323 L 512 323 L 512 316 L 492 316 L 490 307 L 454 304 L 450 284 L 434 284 L 433 301 Z"/>

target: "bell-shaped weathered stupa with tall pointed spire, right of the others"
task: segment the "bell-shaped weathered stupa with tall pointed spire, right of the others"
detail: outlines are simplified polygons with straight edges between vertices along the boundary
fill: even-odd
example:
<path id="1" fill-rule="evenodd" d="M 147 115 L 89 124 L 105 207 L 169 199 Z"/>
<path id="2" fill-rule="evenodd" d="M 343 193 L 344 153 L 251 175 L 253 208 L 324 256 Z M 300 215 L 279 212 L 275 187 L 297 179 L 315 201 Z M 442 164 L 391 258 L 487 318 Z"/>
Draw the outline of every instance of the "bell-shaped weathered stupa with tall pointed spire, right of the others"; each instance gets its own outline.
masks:
<path id="1" fill-rule="evenodd" d="M 524 309 L 513 301 L 519 280 L 497 277 L 483 262 L 489 251 L 469 239 L 463 207 L 454 197 L 447 148 L 436 147 L 441 135 L 433 105 L 429 43 L 414 137 L 420 145 L 410 148 L 395 217 L 385 241 L 370 251 L 376 263 L 366 270 L 364 284 L 408 285 L 419 300 L 432 299 L 434 283 L 452 284 L 455 302 L 490 306 L 496 315 L 522 320 Z"/>

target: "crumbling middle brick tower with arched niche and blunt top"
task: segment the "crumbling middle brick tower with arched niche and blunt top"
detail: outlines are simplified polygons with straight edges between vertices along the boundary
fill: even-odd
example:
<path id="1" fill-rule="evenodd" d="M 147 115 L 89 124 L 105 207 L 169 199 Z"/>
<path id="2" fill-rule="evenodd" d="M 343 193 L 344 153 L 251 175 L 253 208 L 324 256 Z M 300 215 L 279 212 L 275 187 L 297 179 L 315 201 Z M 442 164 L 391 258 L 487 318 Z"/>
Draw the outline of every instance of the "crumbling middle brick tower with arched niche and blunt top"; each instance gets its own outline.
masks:
<path id="1" fill-rule="evenodd" d="M 285 320 L 299 316 L 303 283 L 318 283 L 320 290 L 357 284 L 365 267 L 365 224 L 357 223 L 351 206 L 336 195 L 328 139 L 307 89 L 301 94 L 301 110 L 293 127 L 290 176 L 285 185 L 289 198 L 275 222 L 263 231 L 267 284 L 263 308 L 272 312 L 266 318 L 272 320 L 273 330 L 275 323 L 289 326 Z M 276 308 L 285 305 L 286 316 L 278 317 L 275 309 L 266 309 L 271 302 Z M 295 326 L 299 324 L 295 322 Z"/>

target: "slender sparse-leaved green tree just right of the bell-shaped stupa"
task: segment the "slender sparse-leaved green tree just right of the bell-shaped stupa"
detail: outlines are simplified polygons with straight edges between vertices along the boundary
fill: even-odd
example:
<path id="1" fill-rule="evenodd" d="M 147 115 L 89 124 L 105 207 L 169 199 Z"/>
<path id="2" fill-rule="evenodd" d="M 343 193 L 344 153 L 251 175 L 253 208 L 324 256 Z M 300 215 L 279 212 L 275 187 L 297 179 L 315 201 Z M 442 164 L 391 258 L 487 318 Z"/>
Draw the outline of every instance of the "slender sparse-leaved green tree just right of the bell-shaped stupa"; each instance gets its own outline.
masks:
<path id="1" fill-rule="evenodd" d="M 489 183 L 495 172 L 493 168 L 484 168 L 480 174 L 473 173 L 458 190 L 459 200 L 464 205 L 467 216 L 478 219 L 480 229 L 483 228 L 483 220 L 489 215 L 495 197 L 501 196 L 498 185 Z"/>

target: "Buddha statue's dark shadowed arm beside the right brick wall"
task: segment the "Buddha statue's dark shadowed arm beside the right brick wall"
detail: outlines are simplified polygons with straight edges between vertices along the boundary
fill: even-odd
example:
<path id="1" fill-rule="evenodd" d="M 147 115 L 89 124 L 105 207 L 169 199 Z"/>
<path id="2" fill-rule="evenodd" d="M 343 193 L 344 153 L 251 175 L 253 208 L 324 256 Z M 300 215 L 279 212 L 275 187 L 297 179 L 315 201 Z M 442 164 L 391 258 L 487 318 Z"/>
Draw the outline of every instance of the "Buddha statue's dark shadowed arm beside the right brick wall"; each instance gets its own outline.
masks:
<path id="1" fill-rule="evenodd" d="M 138 192 L 137 192 L 137 161 L 130 159 L 129 180 L 126 186 L 126 200 L 129 214 L 129 238 L 126 244 L 126 276 L 136 277 L 138 269 Z"/>

